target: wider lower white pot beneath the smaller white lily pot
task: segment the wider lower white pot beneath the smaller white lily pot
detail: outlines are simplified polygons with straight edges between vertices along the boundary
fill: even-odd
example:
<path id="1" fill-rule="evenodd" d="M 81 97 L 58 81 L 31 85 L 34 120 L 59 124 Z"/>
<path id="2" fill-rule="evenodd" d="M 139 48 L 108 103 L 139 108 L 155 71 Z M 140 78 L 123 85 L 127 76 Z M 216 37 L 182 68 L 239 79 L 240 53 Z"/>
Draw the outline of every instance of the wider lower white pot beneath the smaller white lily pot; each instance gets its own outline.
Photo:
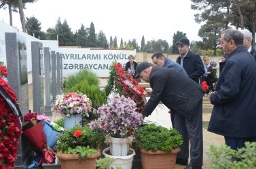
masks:
<path id="1" fill-rule="evenodd" d="M 107 153 L 105 153 L 106 151 L 108 151 L 109 148 L 106 148 L 103 150 L 103 155 L 105 155 L 105 157 L 109 157 L 109 158 L 113 158 L 115 161 L 111 164 L 111 166 L 109 166 L 108 169 L 110 168 L 117 168 L 119 166 L 122 166 L 122 169 L 131 169 L 132 168 L 132 161 L 133 161 L 133 156 L 135 155 L 135 151 L 133 149 L 132 150 L 132 154 L 131 155 L 126 155 L 126 156 L 113 156 L 113 155 L 109 155 Z"/>

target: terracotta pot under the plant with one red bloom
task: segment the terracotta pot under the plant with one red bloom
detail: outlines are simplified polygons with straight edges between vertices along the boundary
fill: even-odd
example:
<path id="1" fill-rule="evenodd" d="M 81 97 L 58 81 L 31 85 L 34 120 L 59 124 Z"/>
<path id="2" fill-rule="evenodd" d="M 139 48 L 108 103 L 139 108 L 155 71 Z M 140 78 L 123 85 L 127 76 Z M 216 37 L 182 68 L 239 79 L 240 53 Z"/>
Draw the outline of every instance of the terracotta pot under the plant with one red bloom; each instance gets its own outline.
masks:
<path id="1" fill-rule="evenodd" d="M 100 152 L 93 153 L 92 155 L 86 157 L 86 164 L 84 162 L 78 162 L 78 155 L 73 156 L 72 154 L 64 154 L 57 152 L 57 157 L 61 160 L 61 169 L 95 169 L 96 168 L 96 158 L 100 156 Z"/>

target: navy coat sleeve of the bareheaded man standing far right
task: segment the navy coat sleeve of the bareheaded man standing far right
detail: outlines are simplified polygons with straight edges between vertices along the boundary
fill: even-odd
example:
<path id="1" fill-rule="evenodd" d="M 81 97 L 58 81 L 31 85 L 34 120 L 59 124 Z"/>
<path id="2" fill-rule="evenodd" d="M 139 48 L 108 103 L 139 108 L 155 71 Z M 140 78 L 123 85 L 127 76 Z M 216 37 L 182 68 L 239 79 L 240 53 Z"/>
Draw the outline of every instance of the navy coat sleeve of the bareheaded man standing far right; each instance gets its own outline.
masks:
<path id="1" fill-rule="evenodd" d="M 236 60 L 227 61 L 223 77 L 220 77 L 220 89 L 211 95 L 213 105 L 222 105 L 236 98 L 240 89 L 241 71 L 242 68 Z"/>

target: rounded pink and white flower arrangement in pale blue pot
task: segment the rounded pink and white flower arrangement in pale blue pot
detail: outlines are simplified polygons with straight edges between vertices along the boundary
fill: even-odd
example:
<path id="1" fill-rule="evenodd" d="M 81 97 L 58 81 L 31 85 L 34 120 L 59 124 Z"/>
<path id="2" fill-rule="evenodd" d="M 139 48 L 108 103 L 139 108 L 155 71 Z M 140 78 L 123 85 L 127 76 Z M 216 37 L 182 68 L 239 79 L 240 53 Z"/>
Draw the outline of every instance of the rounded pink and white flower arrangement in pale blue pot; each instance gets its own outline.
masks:
<path id="1" fill-rule="evenodd" d="M 65 114 L 64 128 L 75 125 L 81 127 L 82 118 L 89 118 L 92 112 L 92 101 L 84 93 L 62 93 L 57 95 L 52 105 L 60 114 Z"/>

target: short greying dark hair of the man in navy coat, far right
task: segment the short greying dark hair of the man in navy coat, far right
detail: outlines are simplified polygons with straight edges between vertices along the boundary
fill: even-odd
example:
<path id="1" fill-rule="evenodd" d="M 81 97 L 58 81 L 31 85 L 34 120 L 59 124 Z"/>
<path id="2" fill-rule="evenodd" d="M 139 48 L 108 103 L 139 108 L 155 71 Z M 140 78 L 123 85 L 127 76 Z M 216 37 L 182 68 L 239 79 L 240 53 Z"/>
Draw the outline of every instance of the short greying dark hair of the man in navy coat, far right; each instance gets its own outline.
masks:
<path id="1" fill-rule="evenodd" d="M 240 46 L 243 44 L 244 36 L 239 30 L 230 28 L 230 29 L 224 30 L 221 34 L 224 34 L 224 40 L 227 42 L 233 39 L 236 45 Z"/>

